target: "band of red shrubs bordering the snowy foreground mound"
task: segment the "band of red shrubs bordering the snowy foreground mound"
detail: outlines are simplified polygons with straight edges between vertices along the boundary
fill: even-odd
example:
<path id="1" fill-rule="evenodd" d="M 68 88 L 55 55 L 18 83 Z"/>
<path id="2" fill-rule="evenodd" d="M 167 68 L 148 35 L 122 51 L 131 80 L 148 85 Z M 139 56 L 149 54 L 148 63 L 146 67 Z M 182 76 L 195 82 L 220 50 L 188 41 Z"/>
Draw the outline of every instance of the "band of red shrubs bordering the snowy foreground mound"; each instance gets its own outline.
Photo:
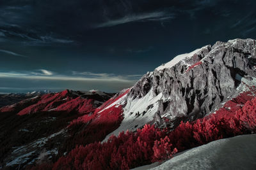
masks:
<path id="1" fill-rule="evenodd" d="M 154 125 L 145 125 L 135 133 L 121 132 L 107 143 L 75 148 L 67 157 L 61 157 L 53 169 L 130 169 L 169 159 L 178 150 L 256 132 L 256 98 L 232 114 L 212 114 L 196 122 L 181 122 L 172 132 Z"/>

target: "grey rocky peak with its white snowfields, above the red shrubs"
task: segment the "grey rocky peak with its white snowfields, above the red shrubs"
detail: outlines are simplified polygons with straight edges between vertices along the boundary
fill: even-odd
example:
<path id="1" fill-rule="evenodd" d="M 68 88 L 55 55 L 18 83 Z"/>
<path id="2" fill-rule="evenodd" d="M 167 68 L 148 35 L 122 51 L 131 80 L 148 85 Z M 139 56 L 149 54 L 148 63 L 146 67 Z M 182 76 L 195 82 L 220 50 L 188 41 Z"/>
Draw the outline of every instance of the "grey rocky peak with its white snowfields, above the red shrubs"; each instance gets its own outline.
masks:
<path id="1" fill-rule="evenodd" d="M 175 127 L 180 120 L 196 120 L 213 113 L 256 85 L 255 67 L 253 39 L 218 41 L 178 55 L 145 74 L 113 104 L 123 106 L 124 120 L 111 134 L 135 131 L 147 123 L 166 126 L 166 118 L 169 126 Z"/>

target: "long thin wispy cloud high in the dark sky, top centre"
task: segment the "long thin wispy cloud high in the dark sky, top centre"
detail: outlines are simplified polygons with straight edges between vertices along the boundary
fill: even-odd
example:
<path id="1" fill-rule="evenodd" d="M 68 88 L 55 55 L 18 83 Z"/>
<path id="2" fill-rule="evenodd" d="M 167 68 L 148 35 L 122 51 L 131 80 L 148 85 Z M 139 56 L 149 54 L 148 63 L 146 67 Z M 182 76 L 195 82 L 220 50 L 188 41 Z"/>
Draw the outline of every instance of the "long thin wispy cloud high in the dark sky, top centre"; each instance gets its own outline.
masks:
<path id="1" fill-rule="evenodd" d="M 141 22 L 141 21 L 163 21 L 170 20 L 175 18 L 175 15 L 172 13 L 166 13 L 164 11 L 156 11 L 152 13 L 141 13 L 141 14 L 133 14 L 126 15 L 125 17 L 118 18 L 115 20 L 108 20 L 102 24 L 96 25 L 95 27 L 112 27 L 115 25 L 126 24 L 129 22 Z"/>

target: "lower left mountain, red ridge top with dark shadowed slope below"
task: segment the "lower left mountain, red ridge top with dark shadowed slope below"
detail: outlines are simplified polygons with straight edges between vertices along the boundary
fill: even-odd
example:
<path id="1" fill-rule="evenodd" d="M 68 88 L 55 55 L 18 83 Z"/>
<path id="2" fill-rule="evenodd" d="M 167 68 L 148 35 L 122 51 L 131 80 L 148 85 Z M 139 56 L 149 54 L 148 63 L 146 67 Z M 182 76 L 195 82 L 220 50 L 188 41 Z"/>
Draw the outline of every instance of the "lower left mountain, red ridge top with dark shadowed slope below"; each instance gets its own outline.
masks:
<path id="1" fill-rule="evenodd" d="M 29 96 L 31 98 L 4 106 L 0 109 L 0 167 L 5 164 L 22 168 L 24 164 L 40 162 L 40 157 L 54 159 L 58 150 L 72 139 L 68 135 L 68 124 L 93 113 L 112 96 L 94 90 L 64 90 Z"/>

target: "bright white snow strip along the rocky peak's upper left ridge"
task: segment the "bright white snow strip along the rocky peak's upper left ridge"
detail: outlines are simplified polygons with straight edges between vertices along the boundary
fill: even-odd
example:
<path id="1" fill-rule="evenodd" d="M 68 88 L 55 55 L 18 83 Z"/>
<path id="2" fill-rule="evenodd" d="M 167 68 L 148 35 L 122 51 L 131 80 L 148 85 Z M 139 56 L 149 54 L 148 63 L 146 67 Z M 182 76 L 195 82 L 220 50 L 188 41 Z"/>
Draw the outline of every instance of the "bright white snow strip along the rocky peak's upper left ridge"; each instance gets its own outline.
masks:
<path id="1" fill-rule="evenodd" d="M 157 67 L 156 70 L 161 70 L 161 69 L 164 69 L 164 68 L 173 67 L 173 66 L 175 66 L 175 64 L 179 63 L 181 60 L 184 60 L 184 59 L 186 59 L 188 57 L 193 57 L 193 55 L 195 55 L 196 53 L 200 52 L 204 48 L 207 48 L 207 45 L 203 46 L 202 48 L 198 48 L 198 49 L 196 49 L 193 52 L 177 55 L 170 62 L 167 62 L 166 64 L 162 64 L 161 66 Z"/>

